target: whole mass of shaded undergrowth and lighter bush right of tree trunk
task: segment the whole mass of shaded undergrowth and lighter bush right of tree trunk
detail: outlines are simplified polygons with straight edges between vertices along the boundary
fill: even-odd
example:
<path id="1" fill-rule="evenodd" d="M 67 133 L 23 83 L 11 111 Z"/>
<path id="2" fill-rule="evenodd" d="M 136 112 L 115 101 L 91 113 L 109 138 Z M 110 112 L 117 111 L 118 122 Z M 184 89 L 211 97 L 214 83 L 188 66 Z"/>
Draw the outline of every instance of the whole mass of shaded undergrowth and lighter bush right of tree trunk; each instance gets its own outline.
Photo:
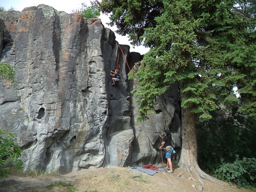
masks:
<path id="1" fill-rule="evenodd" d="M 256 185 L 255 120 L 241 114 L 213 119 L 198 126 L 199 166 L 239 187 Z"/>

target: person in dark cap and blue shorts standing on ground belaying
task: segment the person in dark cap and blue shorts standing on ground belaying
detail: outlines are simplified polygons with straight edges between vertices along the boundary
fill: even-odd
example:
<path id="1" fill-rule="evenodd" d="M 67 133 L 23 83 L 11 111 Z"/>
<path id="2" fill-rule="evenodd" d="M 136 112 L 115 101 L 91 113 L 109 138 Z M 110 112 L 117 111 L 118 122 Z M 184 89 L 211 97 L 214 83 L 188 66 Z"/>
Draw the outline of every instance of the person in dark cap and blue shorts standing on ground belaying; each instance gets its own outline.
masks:
<path id="1" fill-rule="evenodd" d="M 164 133 L 164 137 L 163 137 L 162 145 L 160 146 L 160 150 L 162 150 L 162 148 L 166 150 L 166 159 L 167 159 L 167 166 L 165 168 L 166 172 L 173 173 L 171 158 L 174 150 L 171 146 L 172 138 L 170 137 L 170 131 L 168 129 L 164 129 L 163 133 Z M 170 170 L 168 170 L 169 167 L 170 167 Z"/>

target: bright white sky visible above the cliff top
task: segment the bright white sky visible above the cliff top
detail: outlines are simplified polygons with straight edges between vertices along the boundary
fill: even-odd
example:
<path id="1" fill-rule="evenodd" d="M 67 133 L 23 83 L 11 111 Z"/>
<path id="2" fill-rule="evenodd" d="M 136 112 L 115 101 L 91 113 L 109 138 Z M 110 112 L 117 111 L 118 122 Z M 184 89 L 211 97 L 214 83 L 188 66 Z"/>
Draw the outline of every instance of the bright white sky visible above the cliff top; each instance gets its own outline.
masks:
<path id="1" fill-rule="evenodd" d="M 57 11 L 64 11 L 67 13 L 72 13 L 72 10 L 76 10 L 81 8 L 81 3 L 86 3 L 90 6 L 90 0 L 0 0 L 0 7 L 4 7 L 5 10 L 14 8 L 16 11 L 22 11 L 26 7 L 38 6 L 40 4 L 45 4 L 48 6 L 52 6 Z M 109 22 L 107 15 L 100 15 L 99 17 L 102 20 L 102 24 L 111 29 L 113 32 L 116 31 L 116 26 L 108 26 L 106 23 Z M 141 55 L 145 54 L 149 51 L 149 48 L 145 48 L 143 46 L 134 47 L 128 41 L 128 36 L 121 36 L 116 34 L 116 41 L 119 44 L 129 45 L 130 52 L 139 52 Z"/>

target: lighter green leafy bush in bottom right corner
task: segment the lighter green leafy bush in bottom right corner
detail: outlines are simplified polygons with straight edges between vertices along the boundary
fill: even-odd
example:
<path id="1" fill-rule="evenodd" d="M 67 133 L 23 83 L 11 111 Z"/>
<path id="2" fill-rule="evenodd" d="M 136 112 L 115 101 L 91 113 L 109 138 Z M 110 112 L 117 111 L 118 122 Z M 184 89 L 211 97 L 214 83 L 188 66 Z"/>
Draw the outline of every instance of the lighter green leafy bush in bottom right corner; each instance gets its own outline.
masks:
<path id="1" fill-rule="evenodd" d="M 256 184 L 256 158 L 238 158 L 234 163 L 224 163 L 215 171 L 215 177 L 235 182 L 239 187 Z"/>

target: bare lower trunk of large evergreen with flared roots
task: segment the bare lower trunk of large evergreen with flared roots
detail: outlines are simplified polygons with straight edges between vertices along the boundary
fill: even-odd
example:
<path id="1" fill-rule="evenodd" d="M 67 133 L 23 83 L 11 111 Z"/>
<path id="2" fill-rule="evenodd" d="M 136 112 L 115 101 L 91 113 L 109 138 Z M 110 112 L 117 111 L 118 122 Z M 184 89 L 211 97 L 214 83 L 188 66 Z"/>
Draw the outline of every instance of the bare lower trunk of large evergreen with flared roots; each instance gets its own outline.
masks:
<path id="1" fill-rule="evenodd" d="M 207 179 L 220 184 L 214 177 L 207 175 L 198 166 L 198 148 L 195 132 L 195 114 L 189 113 L 188 108 L 182 108 L 182 147 L 178 166 L 187 172 L 193 173 L 201 183 Z"/>

